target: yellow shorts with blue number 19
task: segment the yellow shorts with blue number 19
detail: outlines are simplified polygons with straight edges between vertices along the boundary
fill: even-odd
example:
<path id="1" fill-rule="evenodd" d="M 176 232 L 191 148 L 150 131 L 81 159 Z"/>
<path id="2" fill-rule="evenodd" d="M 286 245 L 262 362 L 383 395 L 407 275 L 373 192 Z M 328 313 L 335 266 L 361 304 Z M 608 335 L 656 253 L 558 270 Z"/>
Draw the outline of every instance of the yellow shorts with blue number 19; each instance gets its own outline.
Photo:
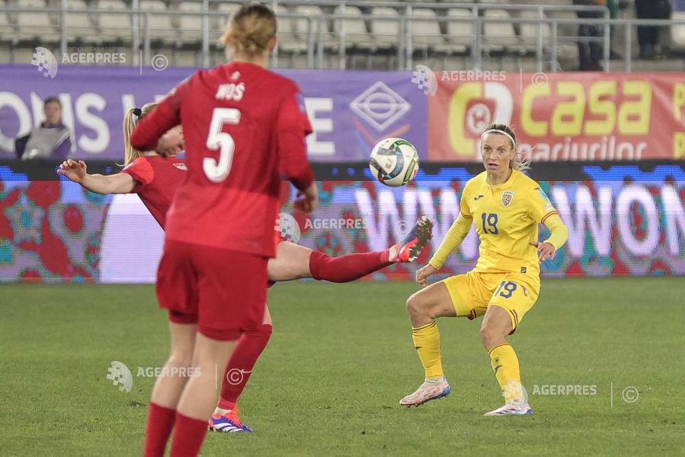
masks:
<path id="1" fill-rule="evenodd" d="M 488 306 L 500 306 L 512 319 L 512 333 L 540 293 L 540 277 L 524 273 L 469 271 L 442 282 L 458 317 L 475 319 L 485 314 Z"/>

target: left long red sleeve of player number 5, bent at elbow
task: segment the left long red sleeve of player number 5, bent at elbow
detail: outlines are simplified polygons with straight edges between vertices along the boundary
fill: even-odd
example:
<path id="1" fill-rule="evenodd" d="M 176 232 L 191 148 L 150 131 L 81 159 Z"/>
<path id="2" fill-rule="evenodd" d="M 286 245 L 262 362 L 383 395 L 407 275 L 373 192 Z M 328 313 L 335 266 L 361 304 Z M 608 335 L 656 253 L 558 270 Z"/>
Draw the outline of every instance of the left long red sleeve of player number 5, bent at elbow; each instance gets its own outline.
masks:
<path id="1" fill-rule="evenodd" d="M 150 114 L 138 122 L 131 135 L 131 145 L 139 151 L 153 151 L 160 137 L 171 127 L 181 123 L 181 104 L 183 103 L 192 77 L 184 79 L 171 89 Z"/>

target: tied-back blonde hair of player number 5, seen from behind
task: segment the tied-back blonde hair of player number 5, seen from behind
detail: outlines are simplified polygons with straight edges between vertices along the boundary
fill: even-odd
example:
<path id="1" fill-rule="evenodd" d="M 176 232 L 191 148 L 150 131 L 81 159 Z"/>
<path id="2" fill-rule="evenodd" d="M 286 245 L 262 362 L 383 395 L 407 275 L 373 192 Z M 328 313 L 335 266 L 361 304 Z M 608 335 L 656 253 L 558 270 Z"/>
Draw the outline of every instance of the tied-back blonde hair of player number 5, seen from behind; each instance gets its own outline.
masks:
<path id="1" fill-rule="evenodd" d="M 244 3 L 231 14 L 221 43 L 233 47 L 236 53 L 254 58 L 268 49 L 274 36 L 276 16 L 271 8 L 260 3 Z"/>

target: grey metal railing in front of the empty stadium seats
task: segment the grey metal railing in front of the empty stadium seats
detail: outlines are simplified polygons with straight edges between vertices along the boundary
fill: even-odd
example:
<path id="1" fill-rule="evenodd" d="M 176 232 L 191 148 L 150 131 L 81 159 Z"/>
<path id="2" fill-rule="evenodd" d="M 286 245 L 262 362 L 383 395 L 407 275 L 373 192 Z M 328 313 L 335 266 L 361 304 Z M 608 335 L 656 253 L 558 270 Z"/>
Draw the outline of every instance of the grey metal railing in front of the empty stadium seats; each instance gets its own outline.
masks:
<path id="1" fill-rule="evenodd" d="M 54 2 L 53 2 L 54 3 Z M 144 0 L 143 0 L 143 3 Z M 161 2 L 158 2 L 161 3 Z M 197 4 L 198 2 L 182 2 Z M 21 34 L 1 34 L 0 40 L 8 42 L 10 49 L 24 42 L 25 44 L 59 43 L 60 51 L 64 55 L 68 51 L 69 42 L 80 45 L 92 45 L 94 43 L 116 43 L 130 45 L 132 49 L 131 64 L 138 66 L 140 62 L 149 62 L 151 49 L 155 47 L 172 47 L 182 49 L 184 47 L 197 47 L 201 49 L 201 64 L 210 65 L 210 55 L 216 52 L 214 45 L 221 34 L 221 27 L 226 18 L 226 12 L 212 10 L 216 2 L 203 0 L 199 10 L 149 10 L 141 9 L 139 0 L 132 0 L 131 7 L 125 10 L 103 10 L 100 8 L 69 8 L 66 0 L 60 0 L 59 8 L 19 8 L 14 5 L 0 6 L 0 16 L 8 19 L 9 29 L 17 32 L 17 17 L 21 14 L 44 15 L 42 24 L 40 21 L 32 27 L 35 36 L 22 38 Z M 479 4 L 479 3 L 399 3 L 379 1 L 346 1 L 334 2 L 319 0 L 313 5 L 308 3 L 308 8 L 316 6 L 319 10 L 316 14 L 306 12 L 283 12 L 283 5 L 302 5 L 302 2 L 292 0 L 280 0 L 275 3 L 279 18 L 279 30 L 283 36 L 282 44 L 273 55 L 273 65 L 278 65 L 279 52 L 300 53 L 306 55 L 308 68 L 323 68 L 324 56 L 337 57 L 337 67 L 347 68 L 347 56 L 356 55 L 364 48 L 367 56 L 380 53 L 392 58 L 389 68 L 411 69 L 414 66 L 415 57 L 421 54 L 423 62 L 429 55 L 462 55 L 469 57 L 472 69 L 481 69 L 483 55 L 504 56 L 521 58 L 534 56 L 537 71 L 558 71 L 560 69 L 559 51 L 560 45 L 575 45 L 579 40 L 597 41 L 603 43 L 603 69 L 610 70 L 610 25 L 623 27 L 623 40 L 625 46 L 625 71 L 632 70 L 632 43 L 634 29 L 638 25 L 654 26 L 682 26 L 685 27 L 685 19 L 679 20 L 645 20 L 645 19 L 610 19 L 608 9 L 601 6 L 564 6 L 564 5 L 508 5 L 508 4 Z M 225 5 L 225 3 L 222 3 Z M 324 12 L 325 7 L 334 8 L 334 12 Z M 375 14 L 345 14 L 345 8 L 397 8 L 396 16 L 379 16 Z M 419 14 L 416 12 L 433 11 L 433 14 Z M 451 15 L 454 10 L 469 11 L 469 15 Z M 300 11 L 303 11 L 300 9 Z M 438 16 L 435 12 L 445 13 Z M 516 12 L 527 17 L 504 16 L 500 13 Z M 603 15 L 602 18 L 575 18 L 575 17 L 549 17 L 547 14 L 563 12 L 575 14 L 578 11 L 595 11 Z M 495 13 L 493 13 L 495 12 Z M 442 14 L 441 13 L 441 14 Z M 490 14 L 493 13 L 493 14 Z M 84 24 L 78 27 L 83 34 L 71 34 L 70 29 L 77 27 L 70 25 L 67 20 L 72 15 L 88 15 L 88 17 L 121 16 L 123 25 L 110 34 L 103 32 L 101 23 L 92 27 L 90 32 Z M 49 23 L 45 22 L 45 15 L 50 17 Z M 14 18 L 14 22 L 10 20 Z M 164 18 L 164 21 L 155 19 Z M 198 18 L 199 23 L 193 23 L 192 34 L 186 36 L 184 28 L 180 27 L 183 21 L 188 23 L 189 18 Z M 377 33 L 374 27 L 366 27 L 370 31 L 365 32 L 366 47 L 358 46 L 358 41 L 352 39 L 349 43 L 346 27 L 357 21 L 356 32 L 360 32 L 359 21 L 364 23 L 393 23 L 396 25 L 397 35 L 384 35 Z M 329 24 L 333 27 L 329 27 Z M 579 37 L 569 34 L 560 34 L 560 27 L 578 27 L 581 23 L 603 25 L 601 37 Z M 301 25 L 305 24 L 304 30 Z M 373 25 L 372 24 L 372 25 Z M 422 25 L 435 25 L 440 28 L 438 34 L 417 33 L 414 28 L 421 29 Z M 464 24 L 464 31 L 459 36 L 446 33 L 449 27 Z M 129 27 L 128 27 L 129 25 Z M 284 25 L 284 27 L 282 27 Z M 493 27 L 494 25 L 494 27 Z M 509 27 L 506 27 L 508 25 Z M 515 34 L 513 25 L 526 27 L 527 33 Z M 489 27 L 488 27 L 489 26 Z M 161 27 L 164 27 L 162 29 Z M 431 27 L 428 27 L 429 29 Z M 51 29 L 51 30 L 49 30 Z M 494 33 L 493 33 L 494 30 Z M 500 30 L 507 33 L 499 34 Z M 129 31 L 130 34 L 123 33 Z M 141 36 L 142 32 L 142 36 Z M 218 33 L 217 33 L 218 32 Z M 436 32 L 432 27 L 432 32 Z M 90 36 L 88 36 L 90 33 Z M 194 35 L 195 34 L 195 35 Z M 199 34 L 199 40 L 197 40 Z M 525 36 L 523 36 L 525 35 Z M 127 39 L 129 36 L 129 39 Z M 51 41 L 52 40 L 52 41 Z M 533 41 L 531 43 L 531 41 Z M 425 44 L 425 45 L 424 45 Z M 573 47 L 573 46 L 571 46 Z M 198 62 L 199 63 L 199 62 Z M 549 65 L 545 65 L 549 64 Z"/>

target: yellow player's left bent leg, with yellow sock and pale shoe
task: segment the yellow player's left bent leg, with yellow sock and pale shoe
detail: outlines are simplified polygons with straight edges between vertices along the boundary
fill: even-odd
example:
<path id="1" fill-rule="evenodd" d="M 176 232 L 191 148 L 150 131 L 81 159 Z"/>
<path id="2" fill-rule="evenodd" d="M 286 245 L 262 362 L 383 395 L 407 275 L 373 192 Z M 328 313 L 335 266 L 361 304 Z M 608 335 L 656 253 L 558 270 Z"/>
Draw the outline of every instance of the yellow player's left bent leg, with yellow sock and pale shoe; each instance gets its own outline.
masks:
<path id="1" fill-rule="evenodd" d="M 412 339 L 425 371 L 425 380 L 416 391 L 400 400 L 402 406 L 419 406 L 430 400 L 449 395 L 449 384 L 440 360 L 440 332 L 435 323 L 438 317 L 456 317 L 452 299 L 443 282 L 436 282 L 414 293 L 407 300 L 407 311 L 412 322 Z"/>

